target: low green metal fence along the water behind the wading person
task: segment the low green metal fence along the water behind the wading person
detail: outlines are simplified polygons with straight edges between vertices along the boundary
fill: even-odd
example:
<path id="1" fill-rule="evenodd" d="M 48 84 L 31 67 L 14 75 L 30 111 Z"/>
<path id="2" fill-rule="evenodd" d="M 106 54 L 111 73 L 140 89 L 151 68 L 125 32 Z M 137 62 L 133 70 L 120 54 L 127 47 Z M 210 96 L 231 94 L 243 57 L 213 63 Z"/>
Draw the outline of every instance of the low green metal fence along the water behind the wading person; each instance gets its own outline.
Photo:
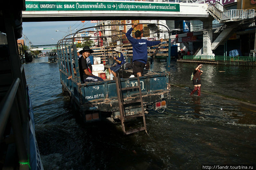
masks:
<path id="1" fill-rule="evenodd" d="M 218 61 L 218 64 L 256 66 L 256 57 L 231 56 L 183 56 L 184 60 Z"/>

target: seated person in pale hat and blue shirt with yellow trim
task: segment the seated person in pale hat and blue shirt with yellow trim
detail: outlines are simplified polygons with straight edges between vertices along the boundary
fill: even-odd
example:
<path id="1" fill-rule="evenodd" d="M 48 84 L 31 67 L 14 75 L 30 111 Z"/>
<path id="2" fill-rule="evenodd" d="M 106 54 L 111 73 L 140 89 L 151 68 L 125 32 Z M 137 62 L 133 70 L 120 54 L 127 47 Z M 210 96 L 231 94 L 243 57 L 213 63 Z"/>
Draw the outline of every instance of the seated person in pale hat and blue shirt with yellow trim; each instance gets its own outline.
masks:
<path id="1" fill-rule="evenodd" d="M 114 50 L 117 53 L 117 58 L 114 56 L 114 61 L 117 62 L 117 65 L 108 68 L 108 72 L 109 72 L 109 74 L 112 73 L 116 77 L 116 72 L 118 72 L 118 70 L 120 70 L 120 68 L 121 68 L 121 65 L 125 63 L 125 58 L 121 51 L 121 47 L 116 47 L 116 48 L 114 48 Z"/>

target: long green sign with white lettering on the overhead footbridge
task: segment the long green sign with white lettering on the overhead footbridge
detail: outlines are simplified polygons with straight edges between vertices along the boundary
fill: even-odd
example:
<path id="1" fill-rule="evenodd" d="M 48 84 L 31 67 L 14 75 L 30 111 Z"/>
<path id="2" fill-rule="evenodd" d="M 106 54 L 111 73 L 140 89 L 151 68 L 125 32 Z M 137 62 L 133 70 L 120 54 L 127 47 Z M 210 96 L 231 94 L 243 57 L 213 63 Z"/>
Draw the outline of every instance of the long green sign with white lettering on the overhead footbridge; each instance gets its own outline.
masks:
<path id="1" fill-rule="evenodd" d="M 180 12 L 180 4 L 145 2 L 26 1 L 26 11 L 169 11 Z"/>

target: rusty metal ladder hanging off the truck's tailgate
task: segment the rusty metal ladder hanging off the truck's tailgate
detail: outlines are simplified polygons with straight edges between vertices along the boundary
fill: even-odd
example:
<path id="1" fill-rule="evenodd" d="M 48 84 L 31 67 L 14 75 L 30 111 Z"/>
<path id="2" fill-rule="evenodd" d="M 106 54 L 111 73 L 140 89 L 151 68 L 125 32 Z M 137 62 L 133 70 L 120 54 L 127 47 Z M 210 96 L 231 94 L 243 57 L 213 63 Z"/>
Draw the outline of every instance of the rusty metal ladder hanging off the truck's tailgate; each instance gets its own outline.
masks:
<path id="1" fill-rule="evenodd" d="M 119 74 L 117 73 L 116 75 L 117 75 L 117 77 L 115 77 L 114 79 L 116 80 L 116 92 L 117 92 L 117 99 L 118 99 L 119 110 L 120 110 L 120 117 L 118 116 L 118 118 L 121 120 L 121 125 L 122 125 L 124 135 L 132 134 L 132 133 L 139 132 L 139 131 L 142 131 L 142 130 L 145 130 L 146 133 L 147 133 L 147 126 L 146 126 L 146 119 L 145 119 L 145 113 L 144 113 L 144 107 L 143 107 L 143 101 L 142 101 L 142 95 L 141 95 L 141 87 L 140 87 L 140 78 L 139 78 L 139 76 L 137 77 L 138 78 L 138 86 L 122 88 Z M 140 91 L 140 98 L 137 99 L 137 100 L 124 101 L 122 91 L 123 90 L 137 89 L 137 88 L 139 88 L 139 91 Z M 139 111 L 138 113 L 133 114 L 133 115 L 126 115 L 124 113 L 124 104 L 131 104 L 131 103 L 136 103 L 136 102 L 140 102 L 141 111 Z M 124 127 L 125 121 L 128 120 L 128 119 L 130 120 L 132 118 L 136 118 L 136 117 L 143 117 L 144 126 L 140 127 L 140 128 L 133 128 L 133 129 L 130 129 L 130 130 L 125 130 L 125 127 Z"/>

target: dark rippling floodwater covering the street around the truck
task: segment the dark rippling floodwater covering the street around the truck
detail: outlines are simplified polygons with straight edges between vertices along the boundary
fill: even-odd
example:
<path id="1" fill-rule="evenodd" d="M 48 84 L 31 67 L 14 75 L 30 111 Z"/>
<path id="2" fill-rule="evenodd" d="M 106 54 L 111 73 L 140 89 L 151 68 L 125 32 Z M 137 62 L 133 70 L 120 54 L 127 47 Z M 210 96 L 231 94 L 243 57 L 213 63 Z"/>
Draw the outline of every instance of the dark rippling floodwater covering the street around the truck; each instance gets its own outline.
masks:
<path id="1" fill-rule="evenodd" d="M 154 61 L 156 70 L 165 70 L 165 64 Z M 188 95 L 195 67 L 171 62 L 168 108 L 146 115 L 148 135 L 123 135 L 121 124 L 76 122 L 69 97 L 62 95 L 57 63 L 43 57 L 24 64 L 44 169 L 255 164 L 256 67 L 204 64 L 201 97 Z"/>

